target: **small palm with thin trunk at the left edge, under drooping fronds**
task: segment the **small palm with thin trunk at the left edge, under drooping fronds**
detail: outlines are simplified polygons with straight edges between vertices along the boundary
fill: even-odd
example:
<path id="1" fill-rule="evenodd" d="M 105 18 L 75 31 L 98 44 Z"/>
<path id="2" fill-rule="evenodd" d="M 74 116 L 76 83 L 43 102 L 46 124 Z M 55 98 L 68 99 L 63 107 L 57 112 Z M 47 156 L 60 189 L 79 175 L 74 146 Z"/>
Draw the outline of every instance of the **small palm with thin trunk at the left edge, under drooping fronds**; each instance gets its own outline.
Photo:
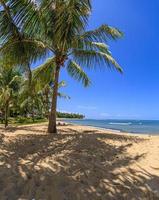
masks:
<path id="1" fill-rule="evenodd" d="M 8 114 L 11 104 L 18 96 L 22 77 L 20 71 L 11 65 L 0 65 L 0 105 L 4 109 L 5 128 L 8 126 Z"/>

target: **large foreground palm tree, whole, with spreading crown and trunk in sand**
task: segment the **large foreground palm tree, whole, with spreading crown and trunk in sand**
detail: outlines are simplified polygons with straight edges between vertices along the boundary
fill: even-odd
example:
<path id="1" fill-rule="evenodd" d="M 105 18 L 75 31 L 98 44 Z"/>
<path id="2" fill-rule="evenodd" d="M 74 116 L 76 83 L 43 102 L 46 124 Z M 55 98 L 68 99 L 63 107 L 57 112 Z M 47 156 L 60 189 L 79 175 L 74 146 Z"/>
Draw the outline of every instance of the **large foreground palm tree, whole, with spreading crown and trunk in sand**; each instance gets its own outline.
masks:
<path id="1" fill-rule="evenodd" d="M 109 39 L 116 40 L 122 33 L 107 25 L 86 31 L 91 13 L 89 0 L 9 0 L 7 6 L 7 11 L 12 12 L 14 25 L 20 27 L 18 30 L 22 31 L 24 38 L 19 40 L 7 35 L 5 40 L 3 39 L 1 52 L 11 52 L 9 55 L 15 57 L 15 46 L 17 49 L 19 46 L 26 46 L 28 52 L 29 45 L 41 49 L 41 55 L 49 52 L 49 58 L 42 65 L 41 72 L 45 76 L 46 71 L 53 68 L 53 71 L 50 70 L 54 85 L 48 132 L 57 133 L 56 107 L 61 69 L 66 68 L 68 73 L 76 80 L 82 81 L 84 86 L 90 84 L 84 68 L 107 66 L 122 72 L 106 45 Z M 3 17 L 0 17 L 0 22 L 3 21 Z M 4 36 L 3 29 L 1 32 Z M 8 30 L 8 33 L 10 32 L 11 30 Z M 36 53 L 35 55 L 34 59 L 37 58 Z"/>

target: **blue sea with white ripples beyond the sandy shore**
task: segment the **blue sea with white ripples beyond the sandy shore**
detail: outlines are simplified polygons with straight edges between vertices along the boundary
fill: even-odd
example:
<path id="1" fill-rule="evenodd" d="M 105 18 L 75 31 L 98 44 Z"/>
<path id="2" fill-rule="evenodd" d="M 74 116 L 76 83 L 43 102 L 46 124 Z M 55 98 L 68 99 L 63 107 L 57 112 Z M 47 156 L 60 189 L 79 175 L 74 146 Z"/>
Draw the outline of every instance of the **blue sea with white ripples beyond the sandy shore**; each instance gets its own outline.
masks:
<path id="1" fill-rule="evenodd" d="M 130 133 L 159 135 L 159 120 L 66 120 L 79 125 L 95 126 Z"/>

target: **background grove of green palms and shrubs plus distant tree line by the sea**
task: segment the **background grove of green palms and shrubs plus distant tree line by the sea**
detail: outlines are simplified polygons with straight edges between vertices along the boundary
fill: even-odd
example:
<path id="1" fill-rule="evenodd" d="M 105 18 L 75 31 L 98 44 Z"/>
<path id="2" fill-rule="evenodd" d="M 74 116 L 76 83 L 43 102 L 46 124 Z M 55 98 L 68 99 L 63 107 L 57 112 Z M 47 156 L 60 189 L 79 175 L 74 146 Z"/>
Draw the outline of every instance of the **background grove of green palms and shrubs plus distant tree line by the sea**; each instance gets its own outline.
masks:
<path id="1" fill-rule="evenodd" d="M 32 71 L 32 75 L 38 70 Z M 41 77 L 42 78 L 42 77 Z M 52 84 L 51 79 L 42 81 L 32 80 L 28 86 L 28 79 L 23 76 L 20 68 L 12 67 L 8 63 L 0 66 L 0 119 L 5 127 L 11 124 L 30 124 L 45 122 L 49 117 L 51 105 Z M 59 88 L 64 87 L 64 81 Z M 29 87 L 29 88 L 28 88 Z M 70 99 L 69 96 L 58 93 L 59 98 Z M 84 118 L 81 114 L 57 112 L 58 118 Z"/>

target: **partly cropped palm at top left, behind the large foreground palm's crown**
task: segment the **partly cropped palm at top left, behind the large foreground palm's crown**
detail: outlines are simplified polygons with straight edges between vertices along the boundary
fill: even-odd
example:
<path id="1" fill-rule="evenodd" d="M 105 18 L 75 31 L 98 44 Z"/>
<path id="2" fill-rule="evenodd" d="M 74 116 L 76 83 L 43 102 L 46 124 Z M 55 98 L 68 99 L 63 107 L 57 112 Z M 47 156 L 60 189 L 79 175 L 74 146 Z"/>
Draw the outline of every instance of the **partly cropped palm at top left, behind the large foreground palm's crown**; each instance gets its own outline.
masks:
<path id="1" fill-rule="evenodd" d="M 21 3 L 24 2 L 21 1 Z M 15 12 L 16 6 L 12 5 L 11 0 L 0 0 L 1 54 L 3 53 L 3 60 L 10 60 L 12 64 L 21 66 L 28 77 L 28 84 L 31 84 L 31 63 L 45 56 L 47 52 L 40 42 L 22 42 L 27 41 L 28 34 L 18 26 L 18 19 L 15 20 Z M 8 51 L 7 47 L 12 48 Z"/>

